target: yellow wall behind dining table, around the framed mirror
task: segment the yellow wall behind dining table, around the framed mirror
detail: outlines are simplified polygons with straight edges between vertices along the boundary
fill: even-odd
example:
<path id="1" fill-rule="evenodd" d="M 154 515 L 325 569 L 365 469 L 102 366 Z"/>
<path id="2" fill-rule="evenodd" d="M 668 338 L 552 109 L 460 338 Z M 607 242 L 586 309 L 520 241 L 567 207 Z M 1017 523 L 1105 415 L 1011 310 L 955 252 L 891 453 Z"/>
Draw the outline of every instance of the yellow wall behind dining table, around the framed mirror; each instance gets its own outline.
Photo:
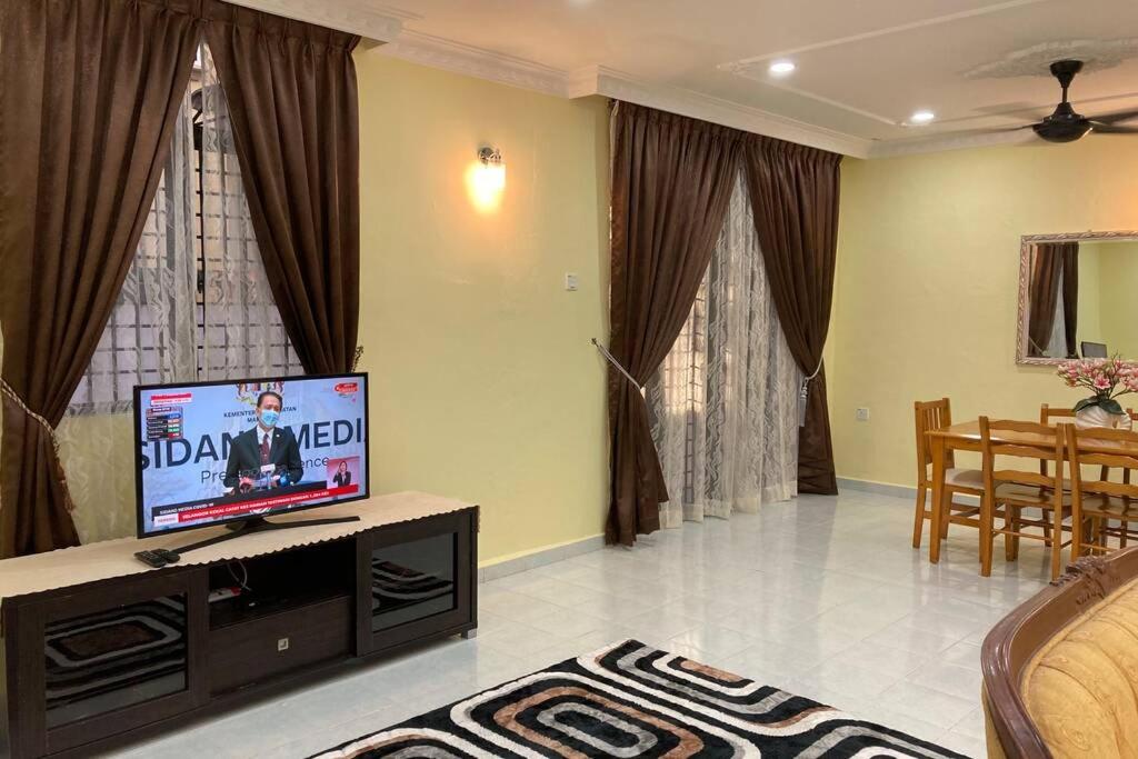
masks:
<path id="1" fill-rule="evenodd" d="M 1015 364 L 1016 283 L 1021 234 L 1088 229 L 1138 229 L 1138 140 L 847 159 L 828 364 L 839 476 L 913 485 L 918 398 L 951 397 L 958 420 L 1077 401 L 1053 370 Z"/>

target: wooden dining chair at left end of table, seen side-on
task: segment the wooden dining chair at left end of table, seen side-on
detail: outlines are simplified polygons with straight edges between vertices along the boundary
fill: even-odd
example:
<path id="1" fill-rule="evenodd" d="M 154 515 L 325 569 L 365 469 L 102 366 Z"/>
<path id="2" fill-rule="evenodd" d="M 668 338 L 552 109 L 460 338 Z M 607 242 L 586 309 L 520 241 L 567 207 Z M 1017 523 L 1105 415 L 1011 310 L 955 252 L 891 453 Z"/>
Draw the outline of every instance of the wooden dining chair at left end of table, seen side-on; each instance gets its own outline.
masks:
<path id="1" fill-rule="evenodd" d="M 929 492 L 932 489 L 932 449 L 926 432 L 953 426 L 953 406 L 948 398 L 940 401 L 917 401 L 913 404 L 917 430 L 917 503 L 913 514 L 913 547 L 921 547 L 921 533 L 924 521 L 932 519 L 932 511 L 925 509 Z M 980 506 L 957 503 L 954 495 L 971 495 L 980 497 L 983 494 L 983 476 L 979 469 L 957 469 L 953 452 L 947 454 L 945 462 L 945 498 L 948 501 L 948 513 L 941 520 L 941 538 L 948 537 L 948 526 L 965 525 L 980 527 Z M 937 508 L 938 504 L 933 504 Z M 932 537 L 930 537 L 930 541 Z"/>

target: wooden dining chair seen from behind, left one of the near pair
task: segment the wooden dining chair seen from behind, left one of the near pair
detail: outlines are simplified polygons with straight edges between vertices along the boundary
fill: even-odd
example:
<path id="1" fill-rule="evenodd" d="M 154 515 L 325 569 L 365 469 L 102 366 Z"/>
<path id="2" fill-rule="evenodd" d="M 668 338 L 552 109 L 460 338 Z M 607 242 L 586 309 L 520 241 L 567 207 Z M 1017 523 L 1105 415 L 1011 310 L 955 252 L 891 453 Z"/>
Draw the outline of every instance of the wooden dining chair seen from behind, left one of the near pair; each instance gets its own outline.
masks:
<path id="1" fill-rule="evenodd" d="M 983 459 L 984 500 L 980 515 L 980 574 L 991 575 L 992 543 L 1004 535 L 1007 561 L 1015 561 L 1020 553 L 1020 538 L 1042 541 L 1052 550 L 1052 579 L 1059 576 L 1063 554 L 1063 520 L 1071 511 L 1072 496 L 1063 489 L 1063 461 L 1066 452 L 1066 427 L 1050 427 L 1036 422 L 989 420 L 980 418 L 980 452 Z M 1003 434 L 1026 434 L 1038 443 L 1015 443 L 1001 439 Z M 998 462 L 997 459 L 1000 461 Z M 1011 459 L 1030 470 L 998 467 Z M 1053 471 L 1040 473 L 1038 462 L 1045 461 Z M 1031 519 L 1024 509 L 1039 509 L 1041 517 Z M 997 527 L 1003 518 L 1004 527 Z M 1047 533 L 1029 533 L 1026 528 L 1049 528 Z"/>

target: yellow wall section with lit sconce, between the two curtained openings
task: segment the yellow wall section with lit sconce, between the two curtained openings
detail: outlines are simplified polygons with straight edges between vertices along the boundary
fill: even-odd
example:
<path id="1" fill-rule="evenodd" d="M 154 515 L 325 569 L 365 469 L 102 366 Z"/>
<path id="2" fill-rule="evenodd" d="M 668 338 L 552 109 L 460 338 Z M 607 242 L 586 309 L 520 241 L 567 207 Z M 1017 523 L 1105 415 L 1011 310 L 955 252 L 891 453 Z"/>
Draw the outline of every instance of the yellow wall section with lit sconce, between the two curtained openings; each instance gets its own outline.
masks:
<path id="1" fill-rule="evenodd" d="M 602 533 L 604 101 L 356 64 L 374 489 L 478 502 L 484 561 Z M 506 188 L 481 214 L 464 172 L 487 143 Z"/>

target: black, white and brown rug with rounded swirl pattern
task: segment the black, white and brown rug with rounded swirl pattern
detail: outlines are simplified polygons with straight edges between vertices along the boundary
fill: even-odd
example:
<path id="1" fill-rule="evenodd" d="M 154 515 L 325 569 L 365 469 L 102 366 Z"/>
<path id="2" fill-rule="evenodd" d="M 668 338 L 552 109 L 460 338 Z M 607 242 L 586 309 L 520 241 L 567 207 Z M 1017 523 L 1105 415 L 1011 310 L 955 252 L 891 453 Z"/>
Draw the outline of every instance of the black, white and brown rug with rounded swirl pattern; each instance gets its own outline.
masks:
<path id="1" fill-rule="evenodd" d="M 318 756 L 960 757 L 637 641 L 569 659 Z"/>

